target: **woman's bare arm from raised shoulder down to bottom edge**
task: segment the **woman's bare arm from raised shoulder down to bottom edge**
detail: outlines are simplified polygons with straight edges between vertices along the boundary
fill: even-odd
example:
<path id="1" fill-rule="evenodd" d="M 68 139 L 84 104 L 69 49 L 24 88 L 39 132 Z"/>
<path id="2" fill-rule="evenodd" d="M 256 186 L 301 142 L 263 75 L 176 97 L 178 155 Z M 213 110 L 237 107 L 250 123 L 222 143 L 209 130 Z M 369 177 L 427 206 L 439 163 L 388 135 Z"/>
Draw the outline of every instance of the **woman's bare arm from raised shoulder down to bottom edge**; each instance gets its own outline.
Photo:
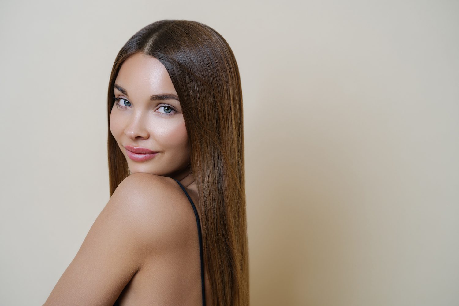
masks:
<path id="1" fill-rule="evenodd" d="M 119 184 L 44 306 L 113 305 L 157 247 L 155 223 L 161 220 L 155 220 L 154 206 L 165 200 L 161 184 L 148 173 L 134 173 Z"/>

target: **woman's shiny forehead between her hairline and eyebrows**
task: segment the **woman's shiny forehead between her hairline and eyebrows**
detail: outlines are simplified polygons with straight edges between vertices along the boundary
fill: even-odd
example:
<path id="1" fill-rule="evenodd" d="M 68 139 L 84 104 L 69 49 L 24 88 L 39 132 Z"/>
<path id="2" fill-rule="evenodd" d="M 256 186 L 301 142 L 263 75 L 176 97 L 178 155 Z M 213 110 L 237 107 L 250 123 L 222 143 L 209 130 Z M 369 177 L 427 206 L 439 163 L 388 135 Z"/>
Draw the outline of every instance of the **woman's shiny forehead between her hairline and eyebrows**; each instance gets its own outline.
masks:
<path id="1" fill-rule="evenodd" d="M 115 83 L 126 89 L 129 95 L 177 94 L 161 61 L 141 52 L 129 56 L 123 62 Z"/>

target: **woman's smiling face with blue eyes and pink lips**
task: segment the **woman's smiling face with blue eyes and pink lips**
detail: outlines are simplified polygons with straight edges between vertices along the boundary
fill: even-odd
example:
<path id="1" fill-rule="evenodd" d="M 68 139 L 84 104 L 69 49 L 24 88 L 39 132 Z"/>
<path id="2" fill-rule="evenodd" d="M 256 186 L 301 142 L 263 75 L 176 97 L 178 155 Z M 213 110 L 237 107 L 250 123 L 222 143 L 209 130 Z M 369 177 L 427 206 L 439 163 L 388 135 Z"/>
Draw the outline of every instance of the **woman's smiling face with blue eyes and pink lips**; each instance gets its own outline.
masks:
<path id="1" fill-rule="evenodd" d="M 115 80 L 114 96 L 119 100 L 113 104 L 110 131 L 131 173 L 173 177 L 186 169 L 188 135 L 177 92 L 162 63 L 141 52 L 129 56 Z M 157 153 L 132 153 L 138 148 Z"/>

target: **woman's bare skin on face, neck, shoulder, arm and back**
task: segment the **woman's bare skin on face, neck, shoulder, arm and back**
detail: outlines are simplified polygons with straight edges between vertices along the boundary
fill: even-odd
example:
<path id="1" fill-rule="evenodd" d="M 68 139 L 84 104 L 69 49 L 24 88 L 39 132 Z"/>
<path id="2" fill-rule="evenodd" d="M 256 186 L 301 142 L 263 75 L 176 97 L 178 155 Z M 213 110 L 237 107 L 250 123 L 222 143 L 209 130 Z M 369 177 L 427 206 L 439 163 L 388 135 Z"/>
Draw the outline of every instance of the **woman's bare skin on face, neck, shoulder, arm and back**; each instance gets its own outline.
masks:
<path id="1" fill-rule="evenodd" d="M 44 306 L 112 306 L 119 295 L 122 306 L 202 305 L 196 218 L 174 180 L 199 213 L 180 102 L 150 100 L 177 92 L 162 63 L 140 52 L 124 61 L 115 84 L 121 99 L 113 105 L 110 131 L 132 174 L 96 218 Z M 133 161 L 125 145 L 159 153 Z M 208 305 L 207 267 L 205 282 Z"/>

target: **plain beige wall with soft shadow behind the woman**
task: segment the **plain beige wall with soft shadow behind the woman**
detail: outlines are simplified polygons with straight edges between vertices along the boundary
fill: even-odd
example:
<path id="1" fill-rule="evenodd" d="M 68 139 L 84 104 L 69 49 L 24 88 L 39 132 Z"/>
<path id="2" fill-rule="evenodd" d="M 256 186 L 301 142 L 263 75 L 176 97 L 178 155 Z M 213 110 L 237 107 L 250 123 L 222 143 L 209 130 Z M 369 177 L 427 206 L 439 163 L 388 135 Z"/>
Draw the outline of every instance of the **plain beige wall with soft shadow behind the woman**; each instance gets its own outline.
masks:
<path id="1" fill-rule="evenodd" d="M 459 305 L 457 1 L 2 1 L 0 304 L 41 305 L 108 197 L 106 88 L 160 19 L 241 71 L 252 305 Z"/>

